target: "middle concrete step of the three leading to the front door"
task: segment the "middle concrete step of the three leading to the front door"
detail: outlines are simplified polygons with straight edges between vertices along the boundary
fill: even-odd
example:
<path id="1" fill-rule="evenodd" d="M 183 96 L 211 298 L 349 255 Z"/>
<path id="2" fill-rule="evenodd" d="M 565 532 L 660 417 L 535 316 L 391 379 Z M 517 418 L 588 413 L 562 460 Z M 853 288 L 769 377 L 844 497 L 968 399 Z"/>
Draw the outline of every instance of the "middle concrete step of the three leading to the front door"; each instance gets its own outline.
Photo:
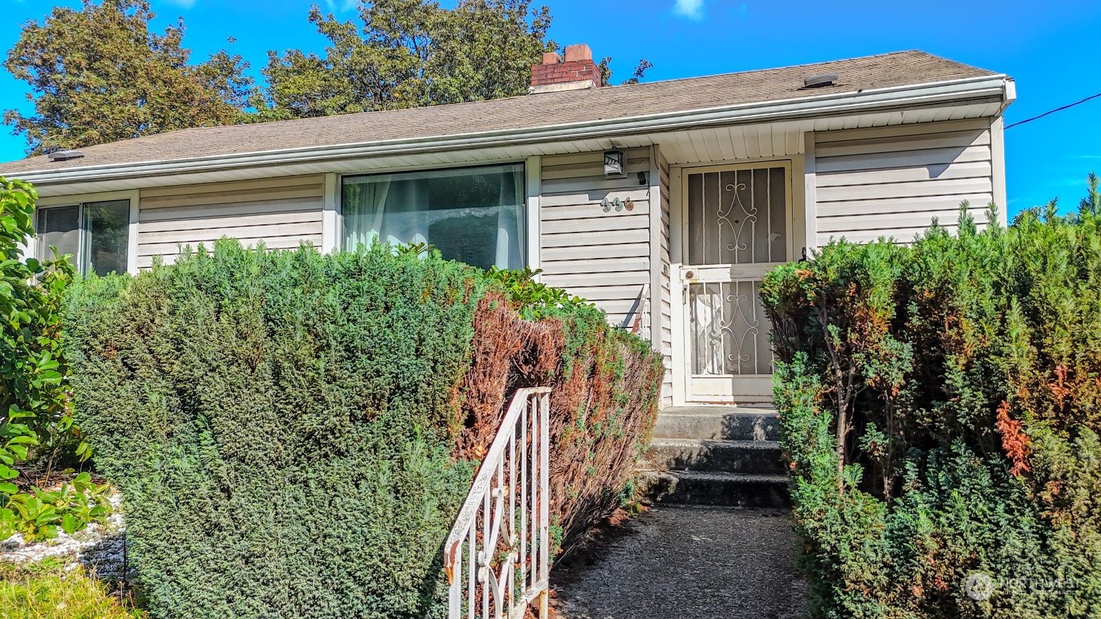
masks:
<path id="1" fill-rule="evenodd" d="M 642 468 L 783 474 L 775 441 L 654 438 Z"/>

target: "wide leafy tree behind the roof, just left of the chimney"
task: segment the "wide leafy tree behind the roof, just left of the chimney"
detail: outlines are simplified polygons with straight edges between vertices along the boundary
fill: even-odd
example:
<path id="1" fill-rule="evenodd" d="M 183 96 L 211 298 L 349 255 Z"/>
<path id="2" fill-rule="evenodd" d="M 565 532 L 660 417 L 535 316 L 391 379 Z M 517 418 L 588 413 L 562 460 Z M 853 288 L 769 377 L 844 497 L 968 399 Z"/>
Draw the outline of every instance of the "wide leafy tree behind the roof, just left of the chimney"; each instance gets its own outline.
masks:
<path id="1" fill-rule="evenodd" d="M 550 12 L 531 0 L 360 2 L 362 25 L 325 15 L 309 22 L 325 55 L 269 52 L 270 107 L 262 118 L 301 118 L 479 101 L 527 93 L 531 67 L 555 48 Z M 258 108 L 260 106 L 257 106 Z"/>

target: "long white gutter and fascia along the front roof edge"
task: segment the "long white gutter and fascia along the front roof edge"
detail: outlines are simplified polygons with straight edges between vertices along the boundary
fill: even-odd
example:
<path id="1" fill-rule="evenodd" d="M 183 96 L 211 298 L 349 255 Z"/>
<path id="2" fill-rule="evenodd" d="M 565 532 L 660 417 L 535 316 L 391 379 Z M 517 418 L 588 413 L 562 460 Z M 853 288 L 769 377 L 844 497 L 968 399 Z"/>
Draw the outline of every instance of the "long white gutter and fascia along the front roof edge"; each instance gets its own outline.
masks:
<path id="1" fill-rule="evenodd" d="M 642 132 L 671 131 L 722 124 L 742 124 L 794 120 L 807 117 L 863 113 L 912 106 L 967 102 L 977 98 L 996 97 L 1005 100 L 1007 83 L 1004 75 L 970 77 L 917 86 L 895 86 L 828 95 L 738 104 L 700 110 L 663 112 L 611 120 L 552 124 L 520 130 L 488 131 L 444 137 L 382 140 L 350 144 L 326 144 L 250 153 L 232 153 L 171 161 L 148 161 L 109 165 L 89 165 L 63 170 L 20 173 L 21 180 L 39 185 L 110 181 L 164 174 L 185 174 L 287 165 L 364 156 L 383 156 L 440 152 L 488 146 L 506 146 L 558 140 L 612 138 Z"/>

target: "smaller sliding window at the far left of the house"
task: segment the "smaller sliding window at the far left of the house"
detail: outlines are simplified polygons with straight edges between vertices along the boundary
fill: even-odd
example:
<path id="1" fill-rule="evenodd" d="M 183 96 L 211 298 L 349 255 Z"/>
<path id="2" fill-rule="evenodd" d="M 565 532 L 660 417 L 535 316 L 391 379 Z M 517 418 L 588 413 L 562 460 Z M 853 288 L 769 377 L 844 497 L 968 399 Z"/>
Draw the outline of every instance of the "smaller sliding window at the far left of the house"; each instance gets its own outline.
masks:
<path id="1" fill-rule="evenodd" d="M 81 273 L 126 273 L 129 267 L 130 200 L 89 202 L 37 209 L 40 259 L 73 254 Z"/>

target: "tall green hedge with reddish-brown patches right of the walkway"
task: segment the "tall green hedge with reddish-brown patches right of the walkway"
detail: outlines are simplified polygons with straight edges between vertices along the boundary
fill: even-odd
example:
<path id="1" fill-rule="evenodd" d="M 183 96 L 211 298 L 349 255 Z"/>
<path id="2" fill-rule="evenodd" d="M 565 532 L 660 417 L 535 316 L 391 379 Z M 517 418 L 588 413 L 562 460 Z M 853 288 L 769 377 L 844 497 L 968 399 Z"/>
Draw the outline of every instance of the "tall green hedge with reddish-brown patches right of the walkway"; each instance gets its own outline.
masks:
<path id="1" fill-rule="evenodd" d="M 1101 218 L 961 215 L 765 280 L 815 617 L 1101 616 Z"/>

